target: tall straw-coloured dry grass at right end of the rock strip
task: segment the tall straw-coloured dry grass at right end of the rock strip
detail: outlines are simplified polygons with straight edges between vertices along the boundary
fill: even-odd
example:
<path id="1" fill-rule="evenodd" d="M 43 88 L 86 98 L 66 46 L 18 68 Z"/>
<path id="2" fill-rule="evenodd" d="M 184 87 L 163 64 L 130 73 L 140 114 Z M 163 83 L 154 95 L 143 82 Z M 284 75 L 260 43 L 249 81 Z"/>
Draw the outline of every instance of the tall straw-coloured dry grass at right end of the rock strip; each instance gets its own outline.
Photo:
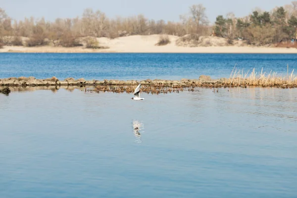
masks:
<path id="1" fill-rule="evenodd" d="M 294 74 L 294 69 L 289 73 L 289 65 L 287 66 L 287 76 L 278 75 L 277 72 L 263 73 L 263 68 L 260 73 L 255 72 L 255 69 L 250 73 L 245 73 L 243 70 L 233 68 L 230 78 L 226 82 L 230 86 L 257 86 L 257 87 L 281 87 L 295 88 L 297 87 L 297 77 Z"/>

